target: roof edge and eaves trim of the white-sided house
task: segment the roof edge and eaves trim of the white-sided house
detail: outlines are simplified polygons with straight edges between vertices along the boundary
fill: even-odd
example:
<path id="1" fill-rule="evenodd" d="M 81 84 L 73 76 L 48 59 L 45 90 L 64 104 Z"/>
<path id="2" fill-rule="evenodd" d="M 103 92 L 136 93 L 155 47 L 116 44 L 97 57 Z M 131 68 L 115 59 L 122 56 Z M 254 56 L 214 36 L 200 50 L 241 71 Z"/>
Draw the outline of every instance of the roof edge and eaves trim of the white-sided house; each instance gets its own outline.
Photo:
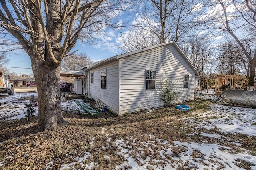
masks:
<path id="1" fill-rule="evenodd" d="M 174 41 L 166 42 L 166 43 L 161 43 L 161 44 L 158 44 L 158 45 L 154 45 L 154 46 L 151 46 L 151 47 L 146 47 L 146 48 L 143 48 L 143 49 L 138 49 L 136 51 L 131 51 L 131 52 L 120 54 L 120 55 L 115 55 L 113 57 L 110 57 L 110 58 L 107 58 L 107 59 L 103 59 L 101 61 L 98 61 L 98 62 L 89 64 L 89 65 L 86 65 L 82 69 L 85 69 L 86 71 L 90 70 L 90 69 L 94 69 L 95 67 L 100 67 L 102 65 L 106 65 L 108 63 L 112 63 L 114 61 L 117 61 L 120 58 L 127 57 L 127 56 L 130 56 L 130 55 L 134 55 L 134 54 L 137 54 L 137 53 L 141 53 L 141 52 L 144 52 L 144 51 L 148 51 L 150 49 L 154 49 L 154 48 L 157 48 L 157 47 L 162 47 L 162 46 L 167 45 L 167 44 L 173 44 L 174 47 L 176 47 L 176 49 L 180 52 L 180 54 L 186 59 L 186 61 L 189 63 L 189 65 L 192 67 L 192 69 L 197 73 L 195 67 L 189 61 L 188 57 L 186 57 L 185 53 L 178 46 L 178 44 L 176 42 L 174 42 Z"/>

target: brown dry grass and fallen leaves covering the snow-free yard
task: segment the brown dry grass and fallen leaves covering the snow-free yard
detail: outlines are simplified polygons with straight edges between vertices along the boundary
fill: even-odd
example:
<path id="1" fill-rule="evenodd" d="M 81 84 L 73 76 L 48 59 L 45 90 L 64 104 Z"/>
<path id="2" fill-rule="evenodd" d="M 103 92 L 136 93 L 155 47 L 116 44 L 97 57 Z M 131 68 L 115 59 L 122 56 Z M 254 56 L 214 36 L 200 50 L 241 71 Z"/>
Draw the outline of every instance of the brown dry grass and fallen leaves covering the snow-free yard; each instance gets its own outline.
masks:
<path id="1" fill-rule="evenodd" d="M 63 116 L 72 122 L 68 126 L 58 126 L 57 130 L 50 132 L 36 131 L 36 118 L 32 117 L 28 123 L 25 119 L 14 121 L 0 120 L 0 160 L 4 159 L 3 169 L 45 169 L 46 164 L 53 161 L 52 169 L 60 169 L 62 164 L 74 162 L 74 158 L 84 156 L 87 152 L 90 157 L 84 161 L 84 164 L 97 162 L 96 169 L 114 169 L 116 165 L 124 162 L 123 156 L 115 151 L 120 150 L 114 144 L 117 139 L 125 138 L 130 150 L 135 150 L 132 154 L 138 153 L 138 148 L 143 148 L 144 152 L 140 155 L 134 155 L 134 158 L 142 158 L 153 156 L 157 160 L 161 160 L 159 154 L 152 150 L 161 150 L 162 145 L 159 142 L 148 142 L 151 138 L 166 140 L 172 144 L 172 141 L 180 142 L 201 142 L 208 140 L 210 143 L 222 143 L 224 146 L 231 146 L 230 142 L 223 139 L 206 138 L 201 135 L 188 136 L 192 132 L 198 132 L 198 129 L 191 130 L 190 124 L 184 124 L 184 120 L 191 116 L 192 111 L 203 111 L 208 109 L 210 101 L 192 101 L 187 103 L 191 110 L 180 111 L 174 107 L 158 109 L 153 113 L 136 113 L 127 114 L 115 119 L 106 117 L 92 117 L 85 114 L 71 114 L 63 112 Z M 201 132 L 209 132 L 218 134 L 217 130 L 200 129 Z M 150 134 L 150 135 L 149 135 Z M 153 137 L 151 136 L 153 135 Z M 240 141 L 243 148 L 256 152 L 255 137 L 247 135 L 231 135 L 222 134 L 234 141 Z M 146 145 L 151 146 L 149 150 Z M 235 145 L 234 150 L 239 151 Z M 183 147 L 172 148 L 172 152 L 179 156 L 181 152 L 186 150 Z M 104 158 L 108 155 L 110 159 Z M 202 154 L 195 150 L 193 152 L 195 158 L 202 157 Z M 6 158 L 10 156 L 9 158 Z M 173 161 L 170 155 L 165 155 L 169 161 Z M 140 160 L 136 160 L 140 162 Z M 152 162 L 152 165 L 155 162 Z M 159 162 L 161 165 L 161 161 Z M 245 163 L 240 166 L 248 167 Z M 84 169 L 81 164 L 77 164 L 76 168 Z M 150 169 L 150 167 L 148 167 Z M 180 167 L 180 169 L 184 169 Z"/>

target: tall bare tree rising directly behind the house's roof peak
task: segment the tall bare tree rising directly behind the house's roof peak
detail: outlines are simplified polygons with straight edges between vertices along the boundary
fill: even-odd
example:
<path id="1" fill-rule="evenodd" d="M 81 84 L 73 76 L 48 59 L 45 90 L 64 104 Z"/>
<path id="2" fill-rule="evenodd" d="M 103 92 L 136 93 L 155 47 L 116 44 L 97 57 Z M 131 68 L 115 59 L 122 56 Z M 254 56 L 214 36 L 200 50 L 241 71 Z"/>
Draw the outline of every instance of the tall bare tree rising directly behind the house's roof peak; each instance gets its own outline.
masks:
<path id="1" fill-rule="evenodd" d="M 145 0 L 136 14 L 134 27 L 123 38 L 123 51 L 132 51 L 168 41 L 186 38 L 200 14 L 200 0 Z"/>

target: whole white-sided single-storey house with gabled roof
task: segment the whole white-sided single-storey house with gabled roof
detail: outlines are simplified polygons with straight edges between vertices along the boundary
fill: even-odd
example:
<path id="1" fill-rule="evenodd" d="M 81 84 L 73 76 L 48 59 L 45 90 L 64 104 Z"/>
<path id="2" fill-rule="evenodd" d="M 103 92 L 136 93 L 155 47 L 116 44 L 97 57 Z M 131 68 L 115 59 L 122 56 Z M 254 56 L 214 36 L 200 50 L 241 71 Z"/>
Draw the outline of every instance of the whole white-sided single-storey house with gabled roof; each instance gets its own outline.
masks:
<path id="1" fill-rule="evenodd" d="M 166 79 L 180 92 L 176 102 L 194 99 L 196 69 L 176 42 L 116 55 L 83 69 L 84 93 L 118 115 L 164 106 L 159 93 Z"/>

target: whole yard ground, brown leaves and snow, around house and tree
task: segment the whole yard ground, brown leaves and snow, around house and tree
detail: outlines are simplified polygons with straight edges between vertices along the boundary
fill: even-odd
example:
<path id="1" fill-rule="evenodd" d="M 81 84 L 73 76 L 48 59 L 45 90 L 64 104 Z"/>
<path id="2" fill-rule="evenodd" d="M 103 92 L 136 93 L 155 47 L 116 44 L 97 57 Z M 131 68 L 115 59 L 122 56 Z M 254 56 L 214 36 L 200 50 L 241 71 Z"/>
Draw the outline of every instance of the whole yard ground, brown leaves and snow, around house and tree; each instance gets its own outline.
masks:
<path id="1" fill-rule="evenodd" d="M 0 107 L 0 170 L 256 170 L 256 136 L 246 134 L 256 126 L 251 108 L 200 95 L 185 103 L 189 111 L 172 106 L 114 117 L 86 114 L 68 100 L 62 115 L 70 124 L 39 132 L 37 117 L 11 119 L 24 113 L 22 102 L 34 93 L 17 91 L 32 88 L 17 88 Z"/>

